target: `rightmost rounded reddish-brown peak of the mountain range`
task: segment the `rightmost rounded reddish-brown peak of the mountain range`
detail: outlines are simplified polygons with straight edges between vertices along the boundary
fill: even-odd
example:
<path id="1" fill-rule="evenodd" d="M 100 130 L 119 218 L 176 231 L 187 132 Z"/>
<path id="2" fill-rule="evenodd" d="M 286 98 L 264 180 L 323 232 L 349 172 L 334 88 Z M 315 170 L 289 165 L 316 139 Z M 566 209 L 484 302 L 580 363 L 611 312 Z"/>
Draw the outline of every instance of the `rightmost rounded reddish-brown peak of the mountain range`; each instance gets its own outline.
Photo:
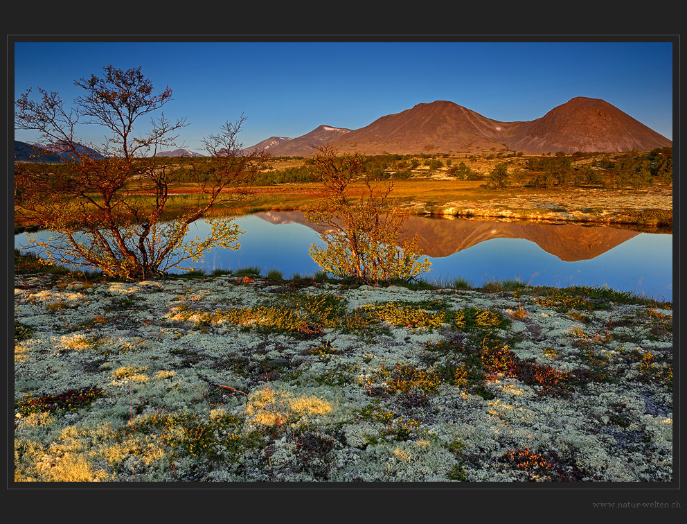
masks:
<path id="1" fill-rule="evenodd" d="M 648 151 L 672 141 L 600 98 L 578 96 L 542 118 L 508 128 L 505 140 L 515 151 Z"/>

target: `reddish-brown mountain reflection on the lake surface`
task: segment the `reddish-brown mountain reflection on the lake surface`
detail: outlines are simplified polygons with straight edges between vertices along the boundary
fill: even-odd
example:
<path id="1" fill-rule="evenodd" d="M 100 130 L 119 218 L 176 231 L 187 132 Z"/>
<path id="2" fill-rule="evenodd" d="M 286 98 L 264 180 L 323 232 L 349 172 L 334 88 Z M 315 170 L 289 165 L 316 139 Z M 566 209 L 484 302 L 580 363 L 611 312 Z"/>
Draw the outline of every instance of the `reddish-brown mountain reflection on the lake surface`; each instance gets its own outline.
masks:
<path id="1" fill-rule="evenodd" d="M 273 224 L 296 222 L 316 232 L 325 227 L 307 222 L 301 211 L 266 211 L 256 216 Z M 630 240 L 639 233 L 614 227 L 588 227 L 578 224 L 544 225 L 528 222 L 492 220 L 442 220 L 411 216 L 404 227 L 407 236 L 418 235 L 427 256 L 440 258 L 466 250 L 492 238 L 524 238 L 566 262 L 591 260 Z"/>

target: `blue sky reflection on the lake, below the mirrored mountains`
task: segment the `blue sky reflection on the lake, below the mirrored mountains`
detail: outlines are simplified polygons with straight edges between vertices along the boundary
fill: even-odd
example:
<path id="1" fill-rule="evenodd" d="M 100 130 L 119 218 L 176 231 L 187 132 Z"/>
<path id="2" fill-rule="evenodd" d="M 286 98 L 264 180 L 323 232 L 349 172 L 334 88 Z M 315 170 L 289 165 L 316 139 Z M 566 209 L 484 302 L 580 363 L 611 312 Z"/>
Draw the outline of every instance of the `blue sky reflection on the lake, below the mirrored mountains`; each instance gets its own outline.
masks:
<path id="1" fill-rule="evenodd" d="M 308 254 L 311 243 L 319 241 L 310 227 L 296 222 L 275 224 L 256 215 L 238 217 L 236 222 L 246 232 L 239 238 L 240 249 L 211 250 L 199 267 L 211 272 L 258 266 L 262 274 L 274 269 L 285 278 L 320 270 Z M 552 234 L 555 227 L 551 225 Z M 208 230 L 199 220 L 189 236 L 202 236 Z M 26 235 L 15 236 L 15 247 L 25 242 Z M 429 281 L 462 277 L 474 286 L 503 279 L 544 286 L 607 284 L 616 290 L 672 301 L 672 234 L 636 234 L 593 259 L 571 262 L 522 238 L 492 238 L 449 256 L 429 259 L 432 268 L 425 275 Z"/>

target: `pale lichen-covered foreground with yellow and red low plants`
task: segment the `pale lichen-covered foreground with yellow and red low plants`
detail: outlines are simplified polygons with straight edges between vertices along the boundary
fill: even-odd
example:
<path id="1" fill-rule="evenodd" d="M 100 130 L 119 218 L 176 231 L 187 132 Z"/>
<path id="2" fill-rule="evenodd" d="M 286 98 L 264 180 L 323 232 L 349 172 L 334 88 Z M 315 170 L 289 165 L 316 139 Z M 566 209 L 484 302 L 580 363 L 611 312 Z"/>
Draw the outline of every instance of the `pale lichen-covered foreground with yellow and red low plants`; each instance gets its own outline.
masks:
<path id="1" fill-rule="evenodd" d="M 15 277 L 17 481 L 662 483 L 672 435 L 672 304 L 606 288 Z"/>

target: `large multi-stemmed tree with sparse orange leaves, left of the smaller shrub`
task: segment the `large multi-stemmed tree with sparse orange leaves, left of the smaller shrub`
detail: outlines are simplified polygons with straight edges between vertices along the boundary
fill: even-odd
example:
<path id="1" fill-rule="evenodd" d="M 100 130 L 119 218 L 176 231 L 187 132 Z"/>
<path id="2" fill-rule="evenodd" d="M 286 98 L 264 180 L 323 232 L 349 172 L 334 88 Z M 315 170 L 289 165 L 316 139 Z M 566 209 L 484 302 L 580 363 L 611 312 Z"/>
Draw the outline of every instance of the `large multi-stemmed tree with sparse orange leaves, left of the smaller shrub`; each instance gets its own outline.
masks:
<path id="1" fill-rule="evenodd" d="M 151 119 L 147 132 L 134 135 L 134 128 L 141 116 L 161 110 L 172 90 L 154 94 L 140 67 L 103 69 L 102 78 L 75 82 L 84 94 L 71 109 L 56 92 L 44 89 L 37 101 L 29 98 L 30 90 L 17 100 L 15 127 L 39 132 L 44 148 L 62 156 L 61 165 L 15 163 L 15 210 L 53 234 L 34 244 L 51 262 L 130 280 L 159 277 L 186 261 L 199 261 L 211 247 L 237 249 L 241 232 L 231 218 L 208 219 L 206 238 L 186 237 L 193 222 L 224 201 L 227 186 L 247 180 L 262 166 L 264 153 L 240 153 L 237 134 L 244 117 L 204 139 L 210 156 L 198 166 L 157 157 L 175 145 L 186 121 L 172 123 L 162 113 Z M 104 143 L 82 143 L 77 132 L 83 125 L 104 129 Z M 37 148 L 38 156 L 44 148 Z M 170 187 L 182 177 L 196 182 L 199 197 L 182 216 L 166 221 Z"/>

